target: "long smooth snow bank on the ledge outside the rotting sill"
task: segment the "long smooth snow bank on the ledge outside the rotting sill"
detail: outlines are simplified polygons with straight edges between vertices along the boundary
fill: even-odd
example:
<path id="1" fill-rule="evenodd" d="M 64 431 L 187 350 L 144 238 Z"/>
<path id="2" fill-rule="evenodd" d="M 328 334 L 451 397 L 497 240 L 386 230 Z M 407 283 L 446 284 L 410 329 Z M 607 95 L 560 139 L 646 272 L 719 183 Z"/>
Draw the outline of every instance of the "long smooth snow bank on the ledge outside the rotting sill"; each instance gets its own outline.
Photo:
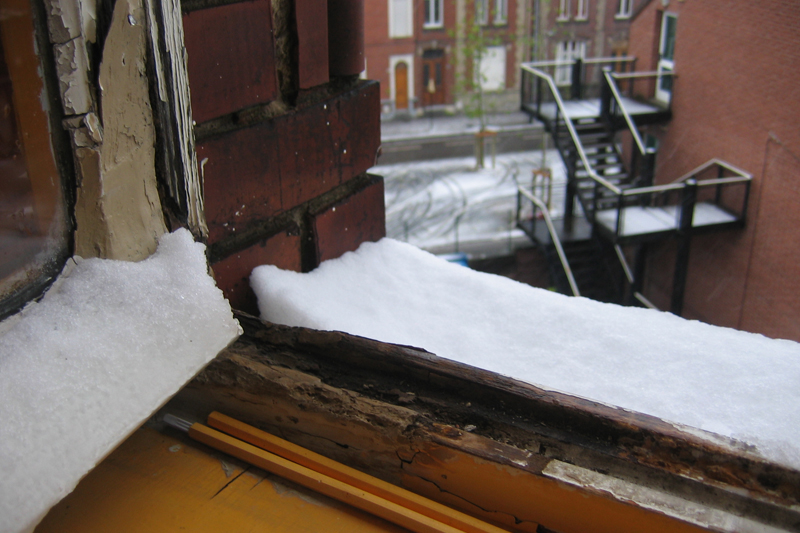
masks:
<path id="1" fill-rule="evenodd" d="M 253 271 L 262 317 L 425 348 L 755 444 L 800 468 L 800 344 L 535 289 L 384 239 Z"/>

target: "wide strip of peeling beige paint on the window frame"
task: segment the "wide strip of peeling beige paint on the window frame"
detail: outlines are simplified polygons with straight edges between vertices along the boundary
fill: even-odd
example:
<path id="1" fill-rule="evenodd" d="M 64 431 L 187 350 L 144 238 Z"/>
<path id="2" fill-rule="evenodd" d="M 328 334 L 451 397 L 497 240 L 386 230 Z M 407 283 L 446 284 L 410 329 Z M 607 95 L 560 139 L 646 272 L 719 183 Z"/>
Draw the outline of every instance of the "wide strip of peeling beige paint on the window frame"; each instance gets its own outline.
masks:
<path id="1" fill-rule="evenodd" d="M 76 150 L 83 175 L 75 251 L 84 257 L 141 260 L 166 232 L 155 175 L 146 28 L 130 24 L 131 18 L 145 20 L 141 0 L 118 0 L 100 65 L 102 117 L 87 114 L 73 136 L 78 146 L 98 146 Z"/>

